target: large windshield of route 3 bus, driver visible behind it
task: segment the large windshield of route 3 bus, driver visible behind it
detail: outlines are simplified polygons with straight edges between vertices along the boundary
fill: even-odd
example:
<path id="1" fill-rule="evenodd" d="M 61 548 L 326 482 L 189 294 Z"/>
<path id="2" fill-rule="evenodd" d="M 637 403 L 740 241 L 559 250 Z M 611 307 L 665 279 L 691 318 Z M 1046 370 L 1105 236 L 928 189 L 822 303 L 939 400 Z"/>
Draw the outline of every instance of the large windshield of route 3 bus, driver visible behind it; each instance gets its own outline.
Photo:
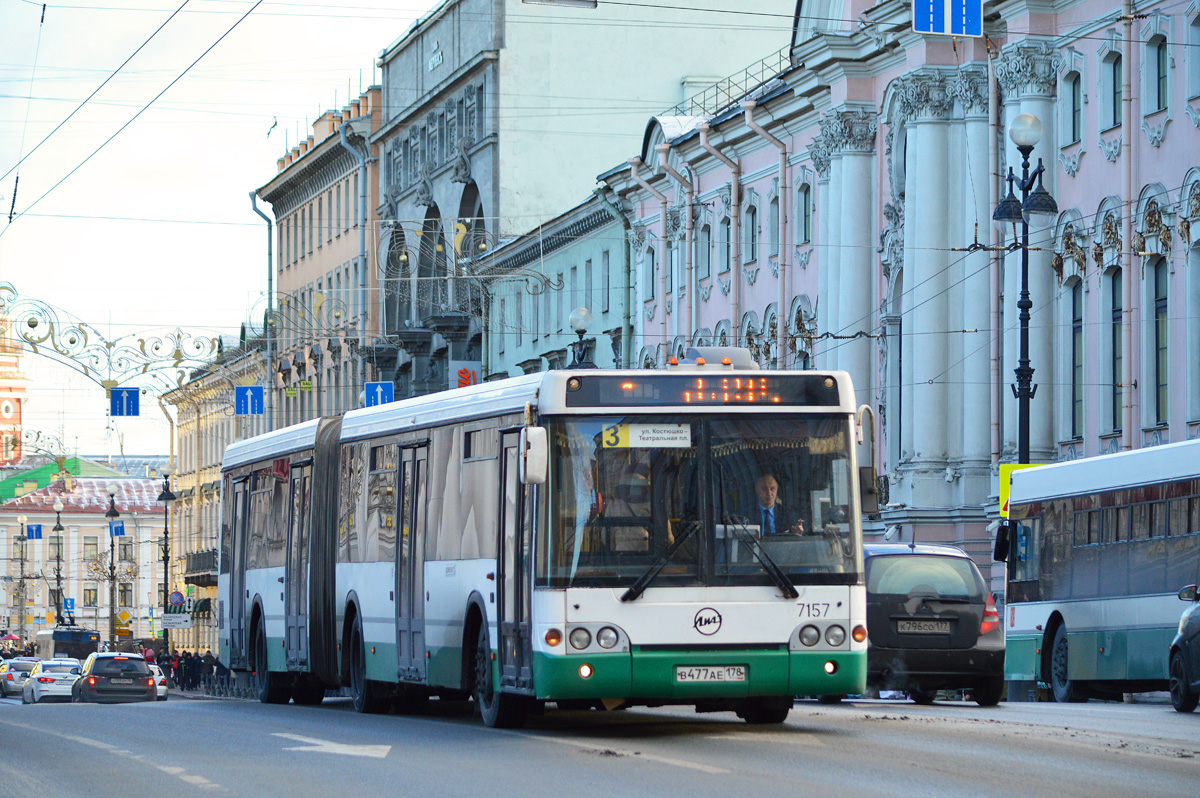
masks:
<path id="1" fill-rule="evenodd" d="M 539 584 L 858 582 L 850 420 L 571 418 L 551 434 Z M 658 560 L 666 558 L 666 563 Z"/>

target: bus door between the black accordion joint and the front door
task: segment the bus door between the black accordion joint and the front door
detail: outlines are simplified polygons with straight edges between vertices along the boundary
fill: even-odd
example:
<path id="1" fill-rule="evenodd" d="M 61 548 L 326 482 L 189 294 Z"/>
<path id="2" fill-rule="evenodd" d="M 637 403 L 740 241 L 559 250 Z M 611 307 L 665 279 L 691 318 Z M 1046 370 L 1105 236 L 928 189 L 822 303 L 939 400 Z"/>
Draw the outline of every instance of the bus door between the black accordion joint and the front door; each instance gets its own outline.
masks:
<path id="1" fill-rule="evenodd" d="M 396 530 L 396 673 L 425 678 L 425 504 L 428 445 L 400 451 Z"/>

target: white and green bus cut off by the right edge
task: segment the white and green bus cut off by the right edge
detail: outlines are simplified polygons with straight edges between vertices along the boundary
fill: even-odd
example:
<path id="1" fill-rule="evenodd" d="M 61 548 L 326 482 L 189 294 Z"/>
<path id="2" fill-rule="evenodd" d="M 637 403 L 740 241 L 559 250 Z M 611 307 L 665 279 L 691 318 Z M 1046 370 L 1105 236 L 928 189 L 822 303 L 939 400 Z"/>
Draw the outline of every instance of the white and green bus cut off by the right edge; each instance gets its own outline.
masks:
<path id="1" fill-rule="evenodd" d="M 1006 678 L 1062 702 L 1165 690 L 1200 581 L 1200 440 L 1018 470 L 1009 503 Z"/>

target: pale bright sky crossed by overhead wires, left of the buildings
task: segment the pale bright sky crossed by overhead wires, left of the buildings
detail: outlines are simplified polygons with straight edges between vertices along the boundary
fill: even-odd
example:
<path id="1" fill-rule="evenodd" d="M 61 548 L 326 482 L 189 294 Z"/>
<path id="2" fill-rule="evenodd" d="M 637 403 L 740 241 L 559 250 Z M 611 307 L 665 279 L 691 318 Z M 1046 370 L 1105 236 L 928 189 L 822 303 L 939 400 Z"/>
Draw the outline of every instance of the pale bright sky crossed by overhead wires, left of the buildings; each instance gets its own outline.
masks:
<path id="1" fill-rule="evenodd" d="M 433 5 L 67 0 L 43 20 L 0 0 L 0 283 L 92 346 L 236 336 L 266 289 L 250 192 Z M 29 352 L 22 366 L 26 431 L 67 454 L 168 454 L 154 391 L 138 418 L 108 418 L 78 371 Z"/>

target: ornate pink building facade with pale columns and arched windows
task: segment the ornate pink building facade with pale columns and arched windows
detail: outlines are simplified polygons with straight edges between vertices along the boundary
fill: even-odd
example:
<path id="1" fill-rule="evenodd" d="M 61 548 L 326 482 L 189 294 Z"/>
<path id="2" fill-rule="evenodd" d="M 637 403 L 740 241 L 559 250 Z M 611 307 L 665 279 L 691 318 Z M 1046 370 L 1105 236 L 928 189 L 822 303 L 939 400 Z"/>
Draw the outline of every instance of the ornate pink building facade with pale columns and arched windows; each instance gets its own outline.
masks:
<path id="1" fill-rule="evenodd" d="M 905 4 L 800 4 L 791 68 L 652 119 L 600 176 L 632 208 L 638 365 L 725 343 L 848 371 L 888 480 L 871 530 L 983 559 L 1022 257 L 991 216 L 1027 113 L 1060 209 L 1030 229 L 1031 460 L 1198 437 L 1200 18 L 1160 5 L 986 4 L 988 37 L 952 40 Z"/>

